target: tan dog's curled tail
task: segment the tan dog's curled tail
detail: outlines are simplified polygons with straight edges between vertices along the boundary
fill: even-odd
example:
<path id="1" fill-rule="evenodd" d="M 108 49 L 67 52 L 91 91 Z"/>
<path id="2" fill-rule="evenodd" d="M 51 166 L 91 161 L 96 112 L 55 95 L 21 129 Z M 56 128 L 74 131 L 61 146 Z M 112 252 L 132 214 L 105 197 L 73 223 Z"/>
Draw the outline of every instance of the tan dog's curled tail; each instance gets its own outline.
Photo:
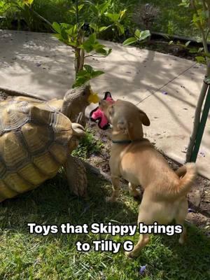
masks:
<path id="1" fill-rule="evenodd" d="M 180 167 L 176 174 L 180 176 L 179 185 L 176 188 L 176 196 L 181 197 L 186 195 L 190 188 L 192 187 L 196 176 L 197 176 L 197 168 L 194 162 L 188 162 L 183 167 Z"/>

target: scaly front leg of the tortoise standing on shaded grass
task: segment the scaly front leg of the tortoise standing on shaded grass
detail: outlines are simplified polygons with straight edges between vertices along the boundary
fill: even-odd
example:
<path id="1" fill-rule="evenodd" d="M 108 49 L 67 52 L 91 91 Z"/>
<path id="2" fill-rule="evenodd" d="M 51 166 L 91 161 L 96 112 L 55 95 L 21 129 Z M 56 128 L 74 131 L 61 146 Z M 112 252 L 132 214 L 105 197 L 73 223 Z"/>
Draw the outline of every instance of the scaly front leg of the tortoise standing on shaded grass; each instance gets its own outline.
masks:
<path id="1" fill-rule="evenodd" d="M 87 195 L 87 176 L 83 162 L 69 154 L 64 169 L 70 190 L 75 195 L 85 197 Z"/>

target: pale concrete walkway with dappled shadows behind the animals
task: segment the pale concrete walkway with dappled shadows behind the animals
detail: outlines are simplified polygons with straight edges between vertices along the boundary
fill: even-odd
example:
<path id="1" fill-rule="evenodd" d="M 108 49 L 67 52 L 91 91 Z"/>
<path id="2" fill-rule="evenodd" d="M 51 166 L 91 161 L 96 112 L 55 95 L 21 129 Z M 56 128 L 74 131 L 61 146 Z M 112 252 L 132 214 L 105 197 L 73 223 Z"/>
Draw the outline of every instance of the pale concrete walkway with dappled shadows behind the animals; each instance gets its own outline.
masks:
<path id="1" fill-rule="evenodd" d="M 182 163 L 204 66 L 160 52 L 104 43 L 113 49 L 111 55 L 87 60 L 87 64 L 106 72 L 92 80 L 93 89 L 101 96 L 109 90 L 114 99 L 129 100 L 146 111 L 151 118 L 151 126 L 145 128 L 146 137 Z M 50 34 L 0 31 L 0 87 L 45 99 L 62 98 L 73 76 L 71 48 Z M 209 120 L 197 164 L 200 174 L 210 179 Z"/>

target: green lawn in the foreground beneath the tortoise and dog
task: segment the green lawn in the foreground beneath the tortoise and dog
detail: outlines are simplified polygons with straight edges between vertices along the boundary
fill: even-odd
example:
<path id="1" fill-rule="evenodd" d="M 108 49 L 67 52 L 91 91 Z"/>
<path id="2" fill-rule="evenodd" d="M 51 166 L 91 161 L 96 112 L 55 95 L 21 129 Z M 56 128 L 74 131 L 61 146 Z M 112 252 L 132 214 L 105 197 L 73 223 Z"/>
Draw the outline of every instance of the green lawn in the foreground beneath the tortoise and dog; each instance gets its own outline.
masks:
<path id="1" fill-rule="evenodd" d="M 178 237 L 153 235 L 151 243 L 136 260 L 118 254 L 76 251 L 76 241 L 128 237 L 109 235 L 30 235 L 27 223 L 38 224 L 137 221 L 137 202 L 124 192 L 120 200 L 107 204 L 111 193 L 106 181 L 88 175 L 89 200 L 72 196 L 62 173 L 43 186 L 0 204 L 0 279 L 210 279 L 209 239 L 197 228 L 188 228 L 188 241 L 179 246 Z M 137 241 L 138 234 L 131 237 Z M 146 265 L 144 275 L 139 267 Z"/>

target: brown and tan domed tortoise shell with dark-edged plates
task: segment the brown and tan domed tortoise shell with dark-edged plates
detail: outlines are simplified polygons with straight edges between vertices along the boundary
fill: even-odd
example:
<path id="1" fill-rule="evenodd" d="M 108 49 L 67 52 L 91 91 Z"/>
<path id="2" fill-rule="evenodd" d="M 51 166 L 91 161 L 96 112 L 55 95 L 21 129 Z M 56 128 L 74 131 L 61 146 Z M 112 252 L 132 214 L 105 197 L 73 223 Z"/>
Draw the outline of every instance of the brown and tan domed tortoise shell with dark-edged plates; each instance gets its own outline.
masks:
<path id="1" fill-rule="evenodd" d="M 66 162 L 73 130 L 48 102 L 11 97 L 0 102 L 0 202 L 36 188 Z"/>

